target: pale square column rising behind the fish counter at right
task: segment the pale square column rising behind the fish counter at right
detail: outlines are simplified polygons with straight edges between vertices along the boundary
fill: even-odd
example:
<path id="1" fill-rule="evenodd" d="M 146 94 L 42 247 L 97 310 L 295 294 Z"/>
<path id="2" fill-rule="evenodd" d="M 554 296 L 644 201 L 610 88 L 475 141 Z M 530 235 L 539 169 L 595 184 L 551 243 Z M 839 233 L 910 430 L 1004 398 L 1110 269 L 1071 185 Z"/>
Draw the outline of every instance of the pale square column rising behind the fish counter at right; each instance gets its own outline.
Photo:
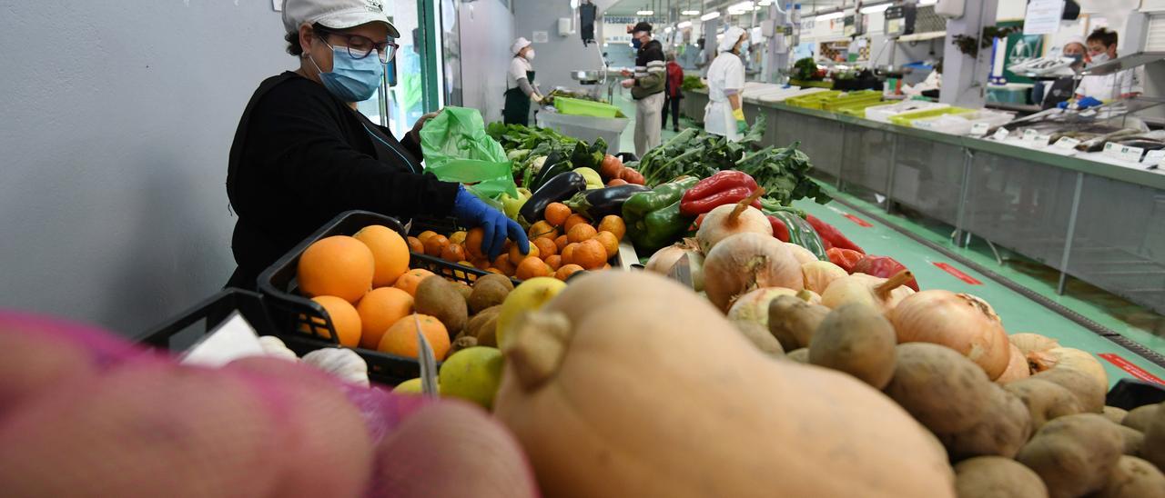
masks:
<path id="1" fill-rule="evenodd" d="M 984 26 L 995 24 L 998 0 L 967 2 L 962 17 L 947 21 L 942 50 L 942 88 L 939 101 L 952 106 L 979 108 L 987 101 L 987 76 L 991 70 L 991 49 L 979 50 L 973 58 L 952 42 L 955 35 L 980 38 Z"/>

